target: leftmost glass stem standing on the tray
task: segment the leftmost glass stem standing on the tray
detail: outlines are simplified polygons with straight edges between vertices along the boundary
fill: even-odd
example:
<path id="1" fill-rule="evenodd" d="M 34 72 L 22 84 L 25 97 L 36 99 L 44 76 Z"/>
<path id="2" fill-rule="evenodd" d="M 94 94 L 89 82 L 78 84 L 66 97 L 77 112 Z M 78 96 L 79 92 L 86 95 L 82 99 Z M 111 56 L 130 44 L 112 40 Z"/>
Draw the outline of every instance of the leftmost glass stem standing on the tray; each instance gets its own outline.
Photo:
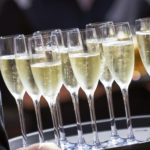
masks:
<path id="1" fill-rule="evenodd" d="M 23 140 L 23 147 L 26 147 L 28 145 L 27 142 L 27 135 L 26 135 L 26 128 L 25 128 L 25 121 L 24 121 L 24 113 L 23 113 L 23 100 L 17 99 L 17 107 L 18 107 L 18 113 L 19 113 L 19 121 L 21 126 L 21 133 L 22 133 L 22 140 Z"/>

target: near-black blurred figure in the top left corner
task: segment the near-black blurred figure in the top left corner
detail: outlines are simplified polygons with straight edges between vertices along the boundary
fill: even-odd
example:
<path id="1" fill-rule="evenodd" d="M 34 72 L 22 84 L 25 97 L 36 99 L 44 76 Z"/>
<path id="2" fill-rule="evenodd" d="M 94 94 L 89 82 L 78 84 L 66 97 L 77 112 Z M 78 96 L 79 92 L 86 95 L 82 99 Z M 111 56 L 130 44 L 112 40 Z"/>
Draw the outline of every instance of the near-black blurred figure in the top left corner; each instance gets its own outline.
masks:
<path id="1" fill-rule="evenodd" d="M 14 0 L 0 0 L 0 35 L 33 32 L 23 11 Z"/>

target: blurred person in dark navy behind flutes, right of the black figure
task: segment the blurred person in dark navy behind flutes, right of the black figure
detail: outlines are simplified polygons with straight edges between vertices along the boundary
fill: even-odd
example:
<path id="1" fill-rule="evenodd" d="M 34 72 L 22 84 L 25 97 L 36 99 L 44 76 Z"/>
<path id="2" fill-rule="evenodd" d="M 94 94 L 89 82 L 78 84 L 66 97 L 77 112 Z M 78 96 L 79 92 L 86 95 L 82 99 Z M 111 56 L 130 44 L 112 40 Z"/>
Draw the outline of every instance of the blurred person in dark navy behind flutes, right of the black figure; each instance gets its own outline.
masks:
<path id="1" fill-rule="evenodd" d="M 35 30 L 84 28 L 89 22 L 129 21 L 150 14 L 149 0 L 14 0 Z"/>

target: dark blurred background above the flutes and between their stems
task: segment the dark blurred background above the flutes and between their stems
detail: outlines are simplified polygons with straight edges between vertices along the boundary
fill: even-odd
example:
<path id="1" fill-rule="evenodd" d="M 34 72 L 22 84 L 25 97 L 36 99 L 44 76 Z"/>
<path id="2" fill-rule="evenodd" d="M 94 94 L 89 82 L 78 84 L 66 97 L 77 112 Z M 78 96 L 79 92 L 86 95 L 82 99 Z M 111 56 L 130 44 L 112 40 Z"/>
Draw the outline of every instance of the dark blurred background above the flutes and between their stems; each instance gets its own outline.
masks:
<path id="1" fill-rule="evenodd" d="M 90 22 L 129 21 L 150 16 L 150 0 L 0 0 L 0 35 L 31 34 L 37 30 L 84 28 Z M 150 114 L 150 77 L 140 60 L 135 39 L 135 72 L 129 88 L 131 114 Z M 18 111 L 14 98 L 0 77 L 5 125 L 8 137 L 20 135 Z M 80 89 L 80 111 L 82 122 L 90 121 L 87 99 Z M 60 92 L 64 125 L 75 123 L 71 97 L 62 87 Z M 113 102 L 116 117 L 124 117 L 124 105 L 120 89 L 113 84 Z M 95 92 L 97 119 L 109 118 L 106 95 L 101 83 Z M 84 112 L 87 113 L 84 113 Z M 24 112 L 27 132 L 37 130 L 33 103 L 26 94 Z M 46 101 L 41 99 L 43 128 L 51 128 L 52 121 Z"/>

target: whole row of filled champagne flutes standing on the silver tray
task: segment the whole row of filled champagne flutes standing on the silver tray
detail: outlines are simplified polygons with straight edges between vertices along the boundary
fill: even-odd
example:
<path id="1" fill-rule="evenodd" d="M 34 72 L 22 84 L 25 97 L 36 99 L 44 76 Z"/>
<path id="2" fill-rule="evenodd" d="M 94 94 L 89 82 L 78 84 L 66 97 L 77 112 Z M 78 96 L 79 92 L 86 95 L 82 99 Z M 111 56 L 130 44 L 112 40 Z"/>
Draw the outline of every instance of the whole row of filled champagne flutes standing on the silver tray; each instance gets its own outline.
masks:
<path id="1" fill-rule="evenodd" d="M 143 25 L 143 20 L 148 22 L 148 19 L 137 22 Z M 148 23 L 146 25 L 148 26 Z M 141 30 L 148 29 L 146 25 L 143 25 Z M 143 41 L 140 39 L 138 43 Z M 141 44 L 143 48 L 144 43 Z M 17 102 L 24 146 L 27 144 L 27 136 L 22 99 L 27 91 L 34 102 L 40 142 L 44 142 L 39 105 L 40 97 L 43 95 L 50 106 L 57 144 L 62 149 L 91 149 L 83 137 L 78 102 L 79 87 L 85 91 L 88 98 L 93 130 L 92 148 L 99 149 L 139 142 L 132 131 L 128 102 L 128 86 L 134 70 L 134 48 L 127 22 L 93 23 L 86 25 L 85 30 L 74 28 L 35 32 L 32 36 L 1 37 L 0 48 L 1 72 L 6 86 Z M 148 57 L 146 58 L 144 58 L 146 60 L 144 65 L 148 63 Z M 100 143 L 98 137 L 93 98 L 99 79 L 106 90 L 111 123 L 110 140 L 104 143 Z M 124 98 L 127 139 L 121 138 L 116 129 L 111 97 L 111 86 L 114 80 L 120 86 Z M 68 142 L 65 137 L 59 101 L 56 100 L 62 84 L 71 93 L 74 104 L 78 130 L 77 144 Z"/>

